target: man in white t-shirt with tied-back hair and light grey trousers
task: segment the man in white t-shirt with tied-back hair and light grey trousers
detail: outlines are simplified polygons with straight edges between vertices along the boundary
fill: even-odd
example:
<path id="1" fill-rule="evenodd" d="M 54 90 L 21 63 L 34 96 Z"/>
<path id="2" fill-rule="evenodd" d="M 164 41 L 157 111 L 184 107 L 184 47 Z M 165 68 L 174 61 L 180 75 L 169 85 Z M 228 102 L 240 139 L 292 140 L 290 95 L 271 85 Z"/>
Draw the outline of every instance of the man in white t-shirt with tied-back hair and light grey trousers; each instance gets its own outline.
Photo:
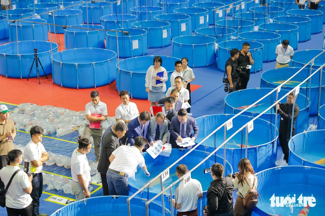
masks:
<path id="1" fill-rule="evenodd" d="M 78 148 L 71 156 L 71 189 L 76 201 L 90 197 L 90 166 L 86 154 L 91 150 L 91 141 L 88 138 L 78 138 Z"/>

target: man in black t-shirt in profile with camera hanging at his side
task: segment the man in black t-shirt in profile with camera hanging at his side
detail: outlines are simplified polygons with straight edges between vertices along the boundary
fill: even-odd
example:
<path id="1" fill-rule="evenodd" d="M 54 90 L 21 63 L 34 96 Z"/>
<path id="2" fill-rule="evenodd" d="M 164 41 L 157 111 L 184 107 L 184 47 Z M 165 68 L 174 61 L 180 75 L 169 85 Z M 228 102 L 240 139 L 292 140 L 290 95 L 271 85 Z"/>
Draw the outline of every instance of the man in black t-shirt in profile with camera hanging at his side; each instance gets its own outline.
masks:
<path id="1" fill-rule="evenodd" d="M 237 67 L 237 59 L 239 56 L 238 49 L 232 49 L 230 51 L 230 58 L 226 61 L 225 65 L 225 74 L 227 73 L 227 78 L 229 82 L 229 90 L 228 94 L 238 90 L 238 80 L 239 80 L 239 73 L 236 70 Z"/>

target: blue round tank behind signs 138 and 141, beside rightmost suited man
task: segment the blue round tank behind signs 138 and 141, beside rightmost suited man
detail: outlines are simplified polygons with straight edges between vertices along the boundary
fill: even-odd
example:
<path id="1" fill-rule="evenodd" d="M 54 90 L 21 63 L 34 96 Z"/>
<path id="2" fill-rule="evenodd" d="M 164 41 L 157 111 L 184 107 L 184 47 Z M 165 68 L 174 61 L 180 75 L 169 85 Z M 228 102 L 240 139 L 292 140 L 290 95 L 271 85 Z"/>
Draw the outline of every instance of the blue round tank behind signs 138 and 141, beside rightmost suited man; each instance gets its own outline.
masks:
<path id="1" fill-rule="evenodd" d="M 200 133 L 195 140 L 199 143 L 212 133 L 218 126 L 228 121 L 234 115 L 232 114 L 217 114 L 205 115 L 196 118 L 196 123 L 199 126 Z M 240 115 L 232 120 L 233 127 L 226 132 L 226 138 L 237 131 L 241 126 L 251 121 L 253 117 Z M 245 133 L 245 131 L 244 131 Z M 236 170 L 238 162 L 245 157 L 245 134 L 241 142 L 241 134 L 236 134 L 231 140 L 226 143 L 226 160 Z M 248 134 L 247 158 L 252 163 L 255 171 L 265 170 L 274 166 L 277 157 L 277 139 L 278 132 L 275 134 L 275 126 L 263 119 L 254 120 L 254 129 Z M 216 132 L 215 145 L 214 135 L 205 140 L 198 150 L 212 152 L 215 146 L 218 147 L 224 142 L 224 128 L 222 127 Z M 242 149 L 241 149 L 242 146 Z M 224 156 L 222 147 L 216 152 L 220 157 Z"/>

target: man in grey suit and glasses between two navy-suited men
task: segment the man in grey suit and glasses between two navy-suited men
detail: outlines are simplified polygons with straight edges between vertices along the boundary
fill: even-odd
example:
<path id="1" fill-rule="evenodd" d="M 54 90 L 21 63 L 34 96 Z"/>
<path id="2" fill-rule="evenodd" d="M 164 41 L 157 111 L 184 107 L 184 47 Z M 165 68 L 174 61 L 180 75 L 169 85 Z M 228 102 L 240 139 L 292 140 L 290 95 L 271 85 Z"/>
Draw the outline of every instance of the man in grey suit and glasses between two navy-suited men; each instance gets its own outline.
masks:
<path id="1" fill-rule="evenodd" d="M 168 121 L 165 114 L 159 112 L 156 117 L 150 119 L 150 135 L 155 141 L 162 140 L 162 144 L 165 144 L 168 138 Z"/>

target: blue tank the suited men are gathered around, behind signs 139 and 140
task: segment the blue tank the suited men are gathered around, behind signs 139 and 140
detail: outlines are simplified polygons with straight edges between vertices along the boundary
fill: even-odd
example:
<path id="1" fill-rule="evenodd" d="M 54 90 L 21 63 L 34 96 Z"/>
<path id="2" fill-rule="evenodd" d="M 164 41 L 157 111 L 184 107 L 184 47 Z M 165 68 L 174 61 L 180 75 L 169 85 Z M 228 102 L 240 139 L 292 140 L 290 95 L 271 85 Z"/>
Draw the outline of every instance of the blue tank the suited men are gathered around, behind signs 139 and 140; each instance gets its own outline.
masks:
<path id="1" fill-rule="evenodd" d="M 129 178 L 129 195 L 134 194 L 138 189 L 140 189 L 145 183 L 147 183 L 149 180 L 151 180 L 152 177 L 159 175 L 164 169 L 166 169 L 167 166 L 171 165 L 173 162 L 175 162 L 177 159 L 182 157 L 185 153 L 187 153 L 189 150 L 179 150 L 179 149 L 172 149 L 172 153 L 169 157 L 158 155 L 155 159 L 153 159 L 147 152 L 143 153 L 143 157 L 146 161 L 146 165 L 148 168 L 148 172 L 150 173 L 150 177 L 147 177 L 143 174 L 143 171 L 141 170 L 141 167 L 137 167 L 137 172 L 135 174 L 135 180 Z M 220 151 L 222 151 L 220 149 Z M 171 183 L 175 182 L 178 177 L 176 176 L 176 167 L 179 164 L 186 164 L 188 170 L 191 170 L 194 166 L 196 166 L 199 162 L 201 162 L 204 158 L 206 158 L 209 155 L 209 153 L 199 150 L 193 150 L 190 152 L 186 157 L 184 157 L 181 161 L 176 163 L 172 168 L 170 168 L 170 174 L 169 178 L 167 178 L 163 182 L 163 188 L 166 186 L 169 186 Z M 210 168 L 212 164 L 214 163 L 224 163 L 224 159 L 219 156 L 212 156 L 205 162 L 203 162 L 197 169 L 195 169 L 191 173 L 191 178 L 198 180 L 201 183 L 202 189 L 203 189 L 203 197 L 198 202 L 198 212 L 203 211 L 203 206 L 206 205 L 207 198 L 206 198 L 206 192 L 208 190 L 208 187 L 210 186 L 210 179 L 211 174 L 203 174 L 203 170 L 206 168 Z M 233 172 L 232 167 L 229 162 L 226 161 L 226 167 L 225 167 L 225 174 L 231 174 Z M 176 186 L 173 186 L 173 197 L 175 198 L 175 188 Z M 161 192 L 161 184 L 160 179 L 156 179 L 149 185 L 149 199 L 157 195 L 159 192 Z M 140 193 L 138 196 L 141 196 Z M 166 194 L 164 194 L 164 205 L 165 208 L 170 208 L 170 190 L 166 191 Z M 147 198 L 148 192 L 147 190 L 143 191 L 142 198 Z M 155 202 L 161 204 L 161 196 L 159 198 L 155 199 Z"/>

